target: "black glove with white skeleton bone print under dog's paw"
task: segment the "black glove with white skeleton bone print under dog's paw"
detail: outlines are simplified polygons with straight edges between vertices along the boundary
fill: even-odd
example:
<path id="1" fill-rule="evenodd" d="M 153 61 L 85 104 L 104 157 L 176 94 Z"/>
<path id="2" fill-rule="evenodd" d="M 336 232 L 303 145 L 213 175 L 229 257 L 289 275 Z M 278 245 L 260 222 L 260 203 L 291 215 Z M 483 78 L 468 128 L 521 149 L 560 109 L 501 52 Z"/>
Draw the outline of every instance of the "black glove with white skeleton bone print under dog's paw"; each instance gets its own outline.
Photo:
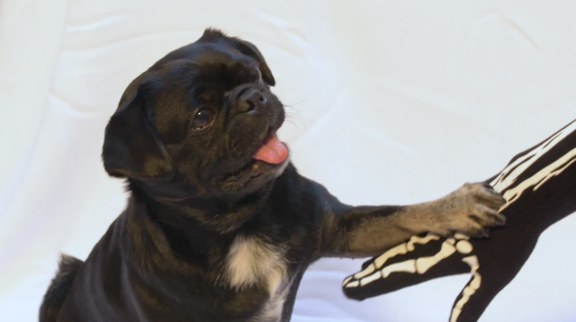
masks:
<path id="1" fill-rule="evenodd" d="M 449 321 L 477 321 L 526 263 L 540 234 L 576 211 L 576 121 L 518 154 L 485 183 L 507 201 L 500 209 L 507 217 L 504 228 L 485 239 L 411 237 L 348 276 L 342 286 L 347 297 L 365 300 L 468 272 L 471 279 L 456 297 Z"/>

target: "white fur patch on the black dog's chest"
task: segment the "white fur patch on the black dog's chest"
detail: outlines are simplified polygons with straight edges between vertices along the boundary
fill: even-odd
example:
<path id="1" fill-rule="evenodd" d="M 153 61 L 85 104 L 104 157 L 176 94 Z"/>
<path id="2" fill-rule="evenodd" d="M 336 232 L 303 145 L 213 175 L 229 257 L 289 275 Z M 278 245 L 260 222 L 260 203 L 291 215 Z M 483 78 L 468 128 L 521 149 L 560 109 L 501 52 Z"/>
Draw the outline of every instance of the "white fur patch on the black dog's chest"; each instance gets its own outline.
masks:
<path id="1" fill-rule="evenodd" d="M 252 322 L 277 322 L 290 290 L 285 250 L 258 237 L 237 237 L 226 258 L 225 276 L 229 286 L 242 291 L 254 285 L 266 288 L 268 299 Z"/>

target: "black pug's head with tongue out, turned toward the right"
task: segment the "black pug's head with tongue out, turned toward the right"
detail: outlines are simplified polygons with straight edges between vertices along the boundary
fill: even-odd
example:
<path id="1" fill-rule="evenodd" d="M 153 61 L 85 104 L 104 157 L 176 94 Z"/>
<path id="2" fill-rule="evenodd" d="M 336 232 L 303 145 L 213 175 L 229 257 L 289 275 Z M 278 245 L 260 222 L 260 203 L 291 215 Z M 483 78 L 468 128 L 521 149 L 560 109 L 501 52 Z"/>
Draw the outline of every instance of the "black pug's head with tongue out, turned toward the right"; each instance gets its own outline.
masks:
<path id="1" fill-rule="evenodd" d="M 272 85 L 253 44 L 204 31 L 128 86 L 106 127 L 106 171 L 200 196 L 257 191 L 288 163 Z"/>

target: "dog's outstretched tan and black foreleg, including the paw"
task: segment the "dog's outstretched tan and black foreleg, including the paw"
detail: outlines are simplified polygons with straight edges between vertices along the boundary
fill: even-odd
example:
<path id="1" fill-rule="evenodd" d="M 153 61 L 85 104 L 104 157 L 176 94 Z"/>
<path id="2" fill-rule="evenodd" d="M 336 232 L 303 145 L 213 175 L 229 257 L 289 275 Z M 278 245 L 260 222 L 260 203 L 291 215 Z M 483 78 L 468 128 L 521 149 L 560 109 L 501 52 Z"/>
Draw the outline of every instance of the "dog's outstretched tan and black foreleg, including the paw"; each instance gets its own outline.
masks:
<path id="1" fill-rule="evenodd" d="M 488 228 L 504 224 L 504 216 L 498 213 L 504 203 L 499 193 L 482 183 L 466 183 L 436 201 L 410 206 L 350 207 L 327 201 L 320 220 L 320 252 L 377 255 L 426 232 L 486 237 Z"/>

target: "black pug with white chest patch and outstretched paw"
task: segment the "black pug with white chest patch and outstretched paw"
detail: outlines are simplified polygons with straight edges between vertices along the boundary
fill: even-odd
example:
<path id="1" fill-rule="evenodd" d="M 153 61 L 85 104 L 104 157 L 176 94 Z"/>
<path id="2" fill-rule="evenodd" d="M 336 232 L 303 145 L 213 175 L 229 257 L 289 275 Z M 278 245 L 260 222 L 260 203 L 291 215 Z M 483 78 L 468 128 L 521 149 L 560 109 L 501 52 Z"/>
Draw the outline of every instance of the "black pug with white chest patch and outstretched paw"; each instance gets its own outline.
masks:
<path id="1" fill-rule="evenodd" d="M 272 85 L 253 44 L 208 29 L 128 86 L 103 144 L 128 206 L 84 263 L 63 256 L 41 322 L 289 321 L 320 257 L 504 223 L 480 183 L 410 206 L 342 204 L 289 162 Z"/>

